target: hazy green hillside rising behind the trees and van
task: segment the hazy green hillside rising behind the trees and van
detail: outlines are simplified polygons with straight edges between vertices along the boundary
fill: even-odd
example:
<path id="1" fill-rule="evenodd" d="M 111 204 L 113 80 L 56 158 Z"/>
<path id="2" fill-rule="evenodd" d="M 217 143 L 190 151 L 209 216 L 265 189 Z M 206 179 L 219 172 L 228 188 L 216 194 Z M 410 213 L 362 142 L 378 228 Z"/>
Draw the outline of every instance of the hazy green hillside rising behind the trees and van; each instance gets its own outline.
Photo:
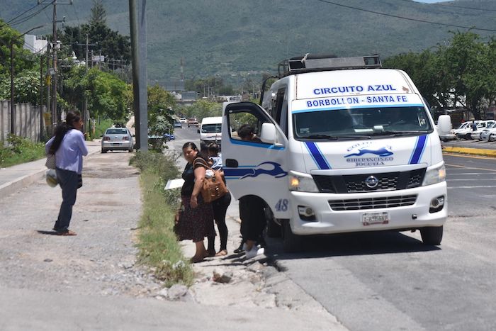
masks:
<path id="1" fill-rule="evenodd" d="M 103 1 L 108 25 L 128 34 L 128 1 Z M 424 21 L 495 29 L 493 0 L 458 0 L 421 4 L 410 0 L 148 0 L 148 77 L 179 78 L 184 57 L 186 79 L 239 72 L 271 72 L 286 57 L 313 53 L 356 56 L 378 53 L 382 57 L 434 47 L 451 38 L 448 26 L 437 26 L 381 16 L 343 6 L 388 13 Z M 2 18 L 12 18 L 35 0 L 0 0 Z M 451 7 L 450 7 L 451 5 Z M 456 6 L 456 7 L 453 7 Z M 83 23 L 91 0 L 58 6 L 69 25 Z M 49 10 L 50 9 L 50 10 Z M 46 13 L 46 14 L 45 14 Z M 51 18 L 51 6 L 30 21 L 16 26 L 28 30 Z M 50 28 L 47 28 L 49 31 Z M 466 30 L 466 29 L 461 29 Z M 492 32 L 474 30 L 484 37 Z"/>

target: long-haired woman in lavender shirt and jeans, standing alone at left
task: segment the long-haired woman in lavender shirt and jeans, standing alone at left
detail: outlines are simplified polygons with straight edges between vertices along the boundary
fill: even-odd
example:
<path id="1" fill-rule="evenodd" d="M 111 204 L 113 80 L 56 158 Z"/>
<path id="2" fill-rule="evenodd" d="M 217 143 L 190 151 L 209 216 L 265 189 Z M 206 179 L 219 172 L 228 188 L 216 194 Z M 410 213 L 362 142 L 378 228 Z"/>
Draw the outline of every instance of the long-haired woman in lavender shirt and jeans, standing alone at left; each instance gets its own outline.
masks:
<path id="1" fill-rule="evenodd" d="M 53 230 L 57 235 L 76 235 L 69 230 L 72 206 L 76 203 L 77 189 L 82 186 L 81 172 L 83 156 L 88 155 L 84 135 L 81 133 L 83 121 L 79 111 L 69 111 L 64 123 L 55 128 L 55 135 L 47 141 L 45 152 L 55 155 L 55 172 L 62 189 L 62 204 Z"/>

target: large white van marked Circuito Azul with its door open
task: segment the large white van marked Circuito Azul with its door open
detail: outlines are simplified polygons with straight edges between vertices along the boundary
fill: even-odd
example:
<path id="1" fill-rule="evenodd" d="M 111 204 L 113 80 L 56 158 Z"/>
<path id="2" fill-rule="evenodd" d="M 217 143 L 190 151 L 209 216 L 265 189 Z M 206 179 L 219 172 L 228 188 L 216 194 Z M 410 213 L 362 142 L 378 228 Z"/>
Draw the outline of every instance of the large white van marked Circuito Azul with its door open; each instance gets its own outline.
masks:
<path id="1" fill-rule="evenodd" d="M 266 96 L 264 108 L 224 104 L 222 162 L 235 198 L 257 196 L 282 225 L 287 252 L 305 235 L 339 232 L 420 230 L 441 243 L 441 143 L 405 72 L 376 55 L 298 57 L 279 64 Z M 251 140 L 237 135 L 246 123 Z"/>

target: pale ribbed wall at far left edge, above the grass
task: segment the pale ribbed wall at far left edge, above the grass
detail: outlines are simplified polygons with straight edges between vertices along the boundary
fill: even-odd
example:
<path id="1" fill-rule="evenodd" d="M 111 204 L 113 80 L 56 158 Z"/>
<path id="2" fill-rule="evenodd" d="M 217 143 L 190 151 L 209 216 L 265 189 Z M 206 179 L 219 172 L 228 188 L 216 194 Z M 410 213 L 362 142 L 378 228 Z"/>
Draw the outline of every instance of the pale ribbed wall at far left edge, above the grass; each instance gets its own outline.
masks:
<path id="1" fill-rule="evenodd" d="M 6 144 L 7 135 L 11 133 L 11 106 L 10 101 L 0 101 L 0 140 Z M 30 103 L 16 103 L 14 105 L 14 130 L 15 135 L 40 141 L 43 135 L 41 122 L 45 128 L 42 112 L 45 113 L 46 106 L 33 106 Z"/>

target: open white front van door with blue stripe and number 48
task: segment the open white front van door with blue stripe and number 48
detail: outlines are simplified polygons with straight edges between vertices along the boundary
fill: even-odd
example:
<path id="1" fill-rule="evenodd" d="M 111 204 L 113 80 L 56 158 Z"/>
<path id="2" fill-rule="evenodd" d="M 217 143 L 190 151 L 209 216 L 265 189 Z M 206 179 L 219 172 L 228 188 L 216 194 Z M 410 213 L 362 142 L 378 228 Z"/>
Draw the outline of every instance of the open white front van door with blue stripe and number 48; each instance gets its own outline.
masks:
<path id="1" fill-rule="evenodd" d="M 225 103 L 223 116 L 222 164 L 232 195 L 259 196 L 276 218 L 288 218 L 288 140 L 283 131 L 255 103 Z"/>

